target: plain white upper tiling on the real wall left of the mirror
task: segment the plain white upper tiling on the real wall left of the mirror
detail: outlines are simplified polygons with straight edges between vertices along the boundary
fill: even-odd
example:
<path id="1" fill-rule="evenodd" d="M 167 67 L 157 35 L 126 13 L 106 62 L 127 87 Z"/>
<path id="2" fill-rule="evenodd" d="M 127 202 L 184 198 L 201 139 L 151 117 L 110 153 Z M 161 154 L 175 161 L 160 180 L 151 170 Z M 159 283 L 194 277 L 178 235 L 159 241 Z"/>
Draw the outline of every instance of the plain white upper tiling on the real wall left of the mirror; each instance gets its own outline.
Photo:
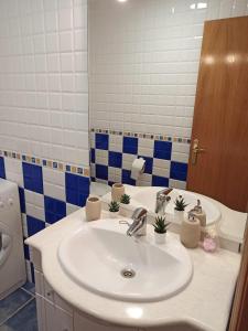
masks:
<path id="1" fill-rule="evenodd" d="M 1 3 L 7 14 L 0 24 L 0 149 L 88 167 L 87 2 Z M 84 52 L 74 50 L 75 34 L 77 44 L 86 41 Z M 68 140 L 65 114 L 73 117 Z M 8 177 L 23 184 L 9 162 Z M 62 196 L 56 186 L 47 182 L 45 191 Z M 39 206 L 29 209 L 37 216 Z"/>

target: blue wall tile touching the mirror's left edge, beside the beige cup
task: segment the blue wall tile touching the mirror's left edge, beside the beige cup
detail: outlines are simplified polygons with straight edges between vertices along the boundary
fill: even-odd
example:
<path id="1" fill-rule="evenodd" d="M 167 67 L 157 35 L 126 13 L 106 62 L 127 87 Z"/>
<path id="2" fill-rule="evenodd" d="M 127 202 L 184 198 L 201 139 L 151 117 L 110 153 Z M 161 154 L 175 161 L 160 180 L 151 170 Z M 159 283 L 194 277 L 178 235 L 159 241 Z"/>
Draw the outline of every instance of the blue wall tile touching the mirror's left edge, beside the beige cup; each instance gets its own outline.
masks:
<path id="1" fill-rule="evenodd" d="M 65 173 L 66 202 L 85 206 L 89 195 L 89 178 Z"/>

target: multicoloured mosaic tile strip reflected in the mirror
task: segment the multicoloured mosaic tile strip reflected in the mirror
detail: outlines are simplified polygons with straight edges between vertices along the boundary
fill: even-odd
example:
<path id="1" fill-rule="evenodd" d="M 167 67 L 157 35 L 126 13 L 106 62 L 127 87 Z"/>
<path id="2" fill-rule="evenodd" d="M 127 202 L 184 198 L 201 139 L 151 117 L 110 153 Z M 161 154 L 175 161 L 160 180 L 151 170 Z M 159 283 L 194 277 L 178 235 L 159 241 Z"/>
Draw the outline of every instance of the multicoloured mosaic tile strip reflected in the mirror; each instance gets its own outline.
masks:
<path id="1" fill-rule="evenodd" d="M 96 132 L 96 134 L 143 138 L 143 139 L 150 139 L 150 140 L 172 141 L 172 142 L 181 142 L 181 143 L 188 143 L 188 145 L 191 143 L 190 138 L 170 137 L 170 136 L 164 136 L 164 135 L 153 135 L 153 134 L 142 134 L 142 132 L 131 132 L 131 131 L 115 131 L 115 130 L 110 130 L 110 129 L 95 129 L 95 128 L 91 128 L 90 131 Z"/>

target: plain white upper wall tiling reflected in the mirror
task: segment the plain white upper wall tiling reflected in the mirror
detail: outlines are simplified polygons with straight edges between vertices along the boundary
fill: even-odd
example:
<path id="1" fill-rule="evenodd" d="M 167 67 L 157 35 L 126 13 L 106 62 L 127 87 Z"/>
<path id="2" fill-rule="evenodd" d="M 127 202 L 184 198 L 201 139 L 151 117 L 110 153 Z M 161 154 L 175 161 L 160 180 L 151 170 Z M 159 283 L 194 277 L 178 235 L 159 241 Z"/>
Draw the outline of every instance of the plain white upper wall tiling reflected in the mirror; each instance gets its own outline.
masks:
<path id="1" fill-rule="evenodd" d="M 247 0 L 89 2 L 90 126 L 190 138 L 204 21 L 245 14 Z"/>

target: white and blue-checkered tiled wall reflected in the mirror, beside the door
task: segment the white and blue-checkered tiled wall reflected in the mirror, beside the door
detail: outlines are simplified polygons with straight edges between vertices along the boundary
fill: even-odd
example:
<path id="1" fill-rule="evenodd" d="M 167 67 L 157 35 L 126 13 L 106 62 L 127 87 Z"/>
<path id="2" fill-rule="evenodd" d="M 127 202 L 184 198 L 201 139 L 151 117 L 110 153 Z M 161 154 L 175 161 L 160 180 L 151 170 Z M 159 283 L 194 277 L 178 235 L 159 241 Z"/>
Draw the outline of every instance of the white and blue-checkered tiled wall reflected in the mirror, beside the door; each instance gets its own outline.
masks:
<path id="1" fill-rule="evenodd" d="M 248 14 L 247 0 L 91 0 L 91 177 L 185 188 L 205 20 Z M 100 142 L 105 141 L 105 142 Z"/>

